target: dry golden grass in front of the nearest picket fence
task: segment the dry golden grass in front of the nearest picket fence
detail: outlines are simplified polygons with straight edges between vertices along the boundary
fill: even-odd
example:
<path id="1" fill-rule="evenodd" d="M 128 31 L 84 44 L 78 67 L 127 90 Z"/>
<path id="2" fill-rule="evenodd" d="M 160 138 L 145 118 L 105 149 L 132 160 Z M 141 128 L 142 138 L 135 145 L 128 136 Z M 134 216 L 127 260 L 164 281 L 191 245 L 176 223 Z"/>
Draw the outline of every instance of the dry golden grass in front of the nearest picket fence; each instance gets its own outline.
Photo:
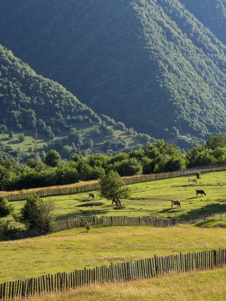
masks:
<path id="1" fill-rule="evenodd" d="M 70 289 L 35 296 L 29 301 L 224 301 L 226 269 L 166 274 L 133 282 Z"/>

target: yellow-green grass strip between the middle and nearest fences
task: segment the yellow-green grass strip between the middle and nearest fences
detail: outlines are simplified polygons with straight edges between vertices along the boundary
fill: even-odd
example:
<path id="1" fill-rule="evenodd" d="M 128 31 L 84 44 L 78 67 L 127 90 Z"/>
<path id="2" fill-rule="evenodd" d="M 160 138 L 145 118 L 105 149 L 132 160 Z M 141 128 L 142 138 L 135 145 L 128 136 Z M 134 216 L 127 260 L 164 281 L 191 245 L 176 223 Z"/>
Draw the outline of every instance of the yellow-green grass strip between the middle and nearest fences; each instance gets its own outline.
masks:
<path id="1" fill-rule="evenodd" d="M 224 229 L 93 227 L 0 242 L 0 283 L 153 255 L 225 248 Z"/>

